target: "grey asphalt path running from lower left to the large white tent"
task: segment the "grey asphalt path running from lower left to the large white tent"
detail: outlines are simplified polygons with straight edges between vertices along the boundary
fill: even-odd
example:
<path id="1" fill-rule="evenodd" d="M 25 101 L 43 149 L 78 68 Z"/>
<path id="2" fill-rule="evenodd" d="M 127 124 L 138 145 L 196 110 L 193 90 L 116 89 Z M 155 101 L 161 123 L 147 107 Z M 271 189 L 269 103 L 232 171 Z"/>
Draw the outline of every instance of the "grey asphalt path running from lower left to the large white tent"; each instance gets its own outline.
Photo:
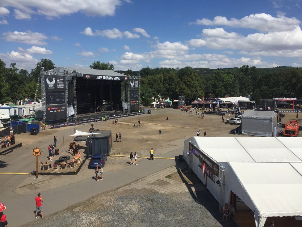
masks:
<path id="1" fill-rule="evenodd" d="M 178 156 L 182 153 L 182 144 L 182 139 L 162 144 L 160 152 L 161 155 L 158 156 L 172 158 Z M 41 192 L 44 199 L 42 204 L 44 215 L 47 216 L 54 212 L 63 210 L 74 203 L 82 202 L 94 195 L 119 188 L 138 179 L 150 176 L 162 169 L 174 166 L 175 164 L 176 161 L 171 159 L 157 159 L 155 161 L 143 159 L 139 160 L 138 165 L 127 165 L 122 169 L 107 171 L 107 169 L 104 168 L 104 180 L 99 182 L 96 182 L 92 178 L 94 175 L 93 170 L 85 169 L 84 171 L 90 171 L 89 173 L 91 173 L 89 178 L 87 178 L 87 176 L 81 177 L 80 175 L 71 175 L 59 176 L 55 178 L 55 181 L 51 181 L 49 180 L 51 176 L 40 175 L 40 182 L 37 182 L 35 176 L 24 177 L 14 175 L 9 176 L 9 185 L 6 185 L 6 188 L 9 188 L 9 190 L 3 191 L 1 197 L 10 198 L 9 206 L 7 206 L 6 209 L 6 215 L 8 216 L 11 226 L 19 226 L 34 219 L 34 198 L 39 192 Z M 172 169 L 174 169 L 174 172 L 177 171 L 175 167 L 172 167 Z M 81 180 L 78 181 L 78 178 Z M 22 182 L 23 187 L 19 187 L 14 190 L 14 180 L 16 180 L 16 182 L 20 182 L 22 179 L 24 179 Z M 15 194 L 13 191 L 19 194 Z M 6 200 L 6 204 L 7 203 L 8 201 Z"/>

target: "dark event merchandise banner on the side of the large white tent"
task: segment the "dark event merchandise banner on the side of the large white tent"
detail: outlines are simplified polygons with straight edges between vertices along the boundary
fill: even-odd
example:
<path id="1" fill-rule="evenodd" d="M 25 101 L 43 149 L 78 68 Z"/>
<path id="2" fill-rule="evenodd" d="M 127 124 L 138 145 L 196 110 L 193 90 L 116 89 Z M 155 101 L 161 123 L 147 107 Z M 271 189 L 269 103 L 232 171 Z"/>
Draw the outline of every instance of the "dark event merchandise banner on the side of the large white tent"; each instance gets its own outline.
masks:
<path id="1" fill-rule="evenodd" d="M 189 151 L 199 159 L 198 167 L 215 183 L 215 177 L 219 177 L 220 166 L 191 142 L 189 143 Z"/>

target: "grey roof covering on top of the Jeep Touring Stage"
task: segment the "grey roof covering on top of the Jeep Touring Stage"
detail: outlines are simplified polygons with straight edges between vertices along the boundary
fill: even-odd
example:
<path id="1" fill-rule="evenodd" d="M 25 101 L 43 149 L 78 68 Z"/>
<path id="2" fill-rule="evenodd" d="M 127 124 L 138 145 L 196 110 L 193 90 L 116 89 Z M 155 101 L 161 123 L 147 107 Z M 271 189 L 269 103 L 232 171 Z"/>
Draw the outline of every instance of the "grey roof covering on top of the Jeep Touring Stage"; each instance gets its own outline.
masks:
<path id="1" fill-rule="evenodd" d="M 83 75 L 89 74 L 89 75 L 102 75 L 102 76 L 123 76 L 128 77 L 128 75 L 124 75 L 112 70 L 100 70 L 100 69 L 81 69 L 81 68 L 74 68 L 74 67 L 65 67 L 60 66 L 48 71 L 52 72 L 64 72 L 64 70 L 67 70 L 69 73 L 72 73 L 73 70 L 77 72 L 77 76 L 83 77 Z"/>

